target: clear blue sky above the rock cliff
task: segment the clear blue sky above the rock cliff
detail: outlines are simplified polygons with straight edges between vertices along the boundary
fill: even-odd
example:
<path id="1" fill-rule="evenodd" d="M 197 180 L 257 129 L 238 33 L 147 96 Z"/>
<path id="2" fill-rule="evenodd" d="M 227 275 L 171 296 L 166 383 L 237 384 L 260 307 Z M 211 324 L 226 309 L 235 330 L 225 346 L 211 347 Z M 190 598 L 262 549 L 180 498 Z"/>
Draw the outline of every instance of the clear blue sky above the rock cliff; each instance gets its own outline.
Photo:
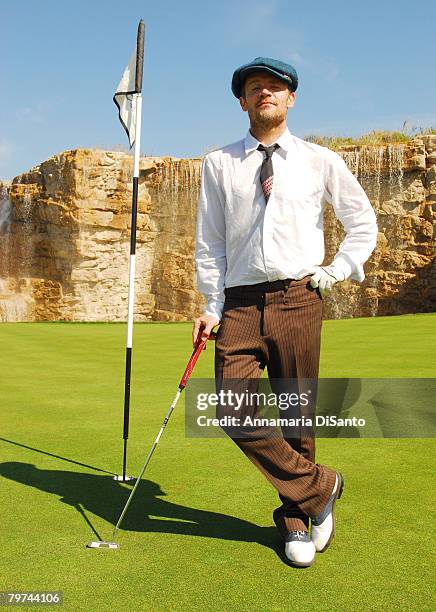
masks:
<path id="1" fill-rule="evenodd" d="M 3 0 L 0 10 L 0 178 L 66 149 L 127 150 L 112 96 L 140 18 L 145 155 L 197 157 L 242 138 L 231 76 L 259 55 L 297 69 L 297 136 L 436 127 L 433 0 Z"/>

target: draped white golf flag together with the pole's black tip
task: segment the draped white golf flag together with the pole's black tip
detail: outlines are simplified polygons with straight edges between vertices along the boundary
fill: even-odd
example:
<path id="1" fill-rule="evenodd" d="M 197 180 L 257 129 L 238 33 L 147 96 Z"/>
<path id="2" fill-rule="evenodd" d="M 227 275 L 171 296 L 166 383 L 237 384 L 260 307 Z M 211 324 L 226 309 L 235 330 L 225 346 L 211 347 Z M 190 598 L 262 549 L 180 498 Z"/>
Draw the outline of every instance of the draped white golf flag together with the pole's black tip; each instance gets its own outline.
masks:
<path id="1" fill-rule="evenodd" d="M 130 57 L 121 81 L 114 95 L 114 102 L 118 107 L 118 115 L 122 126 L 126 130 L 130 148 L 136 139 L 136 106 L 137 96 L 142 89 L 142 66 L 144 62 L 144 22 L 138 27 L 136 47 Z"/>

